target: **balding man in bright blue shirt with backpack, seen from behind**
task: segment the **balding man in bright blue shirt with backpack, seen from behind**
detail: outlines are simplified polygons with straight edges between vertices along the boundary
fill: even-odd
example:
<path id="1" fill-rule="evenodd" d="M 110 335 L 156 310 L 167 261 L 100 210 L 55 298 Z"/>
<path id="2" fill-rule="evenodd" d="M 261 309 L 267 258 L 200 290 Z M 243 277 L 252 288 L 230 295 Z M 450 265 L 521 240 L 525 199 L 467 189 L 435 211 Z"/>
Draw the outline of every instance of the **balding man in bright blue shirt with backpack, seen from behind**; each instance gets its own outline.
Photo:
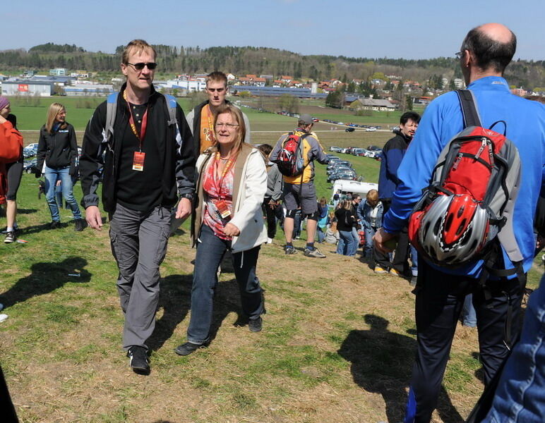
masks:
<path id="1" fill-rule="evenodd" d="M 516 37 L 504 25 L 489 23 L 468 32 L 456 56 L 460 60 L 460 68 L 469 90 L 465 94 L 469 93 L 474 102 L 463 100 L 464 93 L 448 92 L 433 100 L 426 108 L 418 132 L 397 171 L 400 183 L 393 193 L 390 210 L 385 214 L 383 228 L 373 238 L 379 250 L 391 250 L 387 245 L 407 226 L 415 204 L 420 200 L 426 204 L 422 190 L 426 189 L 426 195 L 433 192 L 430 183 L 434 181 L 434 168 L 437 167 L 440 154 L 452 144 L 450 140 L 465 130 L 467 116 L 479 117 L 479 128 L 467 125 L 467 130 L 476 130 L 481 134 L 481 152 L 460 153 L 455 159 L 456 164 L 443 162 L 442 166 L 446 168 L 455 168 L 463 159 L 464 166 L 489 168 L 496 172 L 496 166 L 505 166 L 505 159 L 501 156 L 506 152 L 491 151 L 490 142 L 491 138 L 503 137 L 505 133 L 505 140 L 510 140 L 510 143 L 505 142 L 510 144 L 510 153 L 514 154 L 515 159 L 513 166 L 504 168 L 503 174 L 510 175 L 514 168 L 517 174 L 505 180 L 502 186 L 490 186 L 485 193 L 506 194 L 503 190 L 510 188 L 514 192 L 518 188 L 516 200 L 506 203 L 512 207 L 508 216 L 503 215 L 494 221 L 489 211 L 481 209 L 481 203 L 470 195 L 441 192 L 444 188 L 439 181 L 434 187 L 435 197 L 440 200 L 434 200 L 427 209 L 419 209 L 417 204 L 418 214 L 411 217 L 429 218 L 429 212 L 436 206 L 440 206 L 438 214 L 441 215 L 441 204 L 448 206 L 448 213 L 443 214 L 443 217 L 438 216 L 435 223 L 415 226 L 418 231 L 414 239 L 422 240 L 419 245 L 428 250 L 426 254 L 419 250 L 419 274 L 414 290 L 417 356 L 409 384 L 405 423 L 427 423 L 431 419 L 457 319 L 468 293 L 473 294 L 477 312 L 479 352 L 486 385 L 493 379 L 519 335 L 521 288 L 525 285 L 525 273 L 532 266 L 534 258 L 532 223 L 539 192 L 544 186 L 545 108 L 542 104 L 511 94 L 508 82 L 503 78 L 503 71 L 513 58 L 515 49 Z M 462 111 L 462 105 L 465 107 L 467 104 L 474 105 L 474 113 L 466 114 L 466 109 Z M 498 121 L 502 122 L 494 125 Z M 485 129 L 492 126 L 493 130 Z M 467 137 L 474 142 L 474 137 Z M 479 184 L 481 178 L 476 176 L 477 173 L 466 173 L 468 185 Z M 495 176 L 498 175 L 495 173 Z M 450 216 L 452 220 L 445 221 L 444 216 Z M 472 230 L 469 231 L 469 228 Z M 487 228 L 499 228 L 498 235 L 494 236 L 491 232 L 489 238 Z M 457 238 L 460 236 L 463 238 Z M 515 242 L 504 243 L 500 240 L 506 237 Z M 437 238 L 436 248 L 429 248 L 428 238 Z M 459 242 L 451 245 L 450 241 L 444 241 L 447 238 L 458 239 Z M 482 251 L 486 255 L 472 255 L 489 241 L 491 248 Z M 459 251 L 469 259 L 453 256 Z M 429 259 L 432 256 L 436 258 Z M 441 261 L 440 256 L 453 259 L 455 265 L 437 264 Z M 482 257 L 486 258 L 486 263 Z M 459 262 L 456 262 L 457 259 Z"/>

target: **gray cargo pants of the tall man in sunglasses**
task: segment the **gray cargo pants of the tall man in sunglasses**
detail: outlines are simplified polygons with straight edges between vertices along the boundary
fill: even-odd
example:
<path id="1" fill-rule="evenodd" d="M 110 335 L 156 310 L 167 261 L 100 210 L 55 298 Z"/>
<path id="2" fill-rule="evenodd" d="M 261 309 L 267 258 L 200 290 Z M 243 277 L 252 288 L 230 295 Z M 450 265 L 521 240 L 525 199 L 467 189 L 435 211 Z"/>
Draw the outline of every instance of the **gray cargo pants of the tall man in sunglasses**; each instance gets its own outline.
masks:
<path id="1" fill-rule="evenodd" d="M 119 276 L 117 290 L 125 313 L 123 348 L 148 348 L 159 302 L 159 266 L 167 252 L 171 210 L 155 207 L 138 212 L 116 205 L 110 215 L 110 243 Z"/>

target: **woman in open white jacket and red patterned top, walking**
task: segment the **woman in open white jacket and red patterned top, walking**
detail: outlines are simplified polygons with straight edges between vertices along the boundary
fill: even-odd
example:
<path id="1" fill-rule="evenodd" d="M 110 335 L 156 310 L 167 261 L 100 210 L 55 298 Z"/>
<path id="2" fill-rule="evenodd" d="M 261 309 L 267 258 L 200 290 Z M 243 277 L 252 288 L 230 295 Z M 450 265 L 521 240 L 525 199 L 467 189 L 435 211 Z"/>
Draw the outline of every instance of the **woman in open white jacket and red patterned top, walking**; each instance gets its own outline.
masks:
<path id="1" fill-rule="evenodd" d="M 191 320 L 187 342 L 176 354 L 188 355 L 210 341 L 210 324 L 217 269 L 229 249 L 242 309 L 252 332 L 261 330 L 264 312 L 261 287 L 256 276 L 260 245 L 267 242 L 261 204 L 267 191 L 263 155 L 246 144 L 246 126 L 241 111 L 225 104 L 215 116 L 216 144 L 197 160 L 195 210 L 191 217 L 191 243 L 197 245 Z"/>

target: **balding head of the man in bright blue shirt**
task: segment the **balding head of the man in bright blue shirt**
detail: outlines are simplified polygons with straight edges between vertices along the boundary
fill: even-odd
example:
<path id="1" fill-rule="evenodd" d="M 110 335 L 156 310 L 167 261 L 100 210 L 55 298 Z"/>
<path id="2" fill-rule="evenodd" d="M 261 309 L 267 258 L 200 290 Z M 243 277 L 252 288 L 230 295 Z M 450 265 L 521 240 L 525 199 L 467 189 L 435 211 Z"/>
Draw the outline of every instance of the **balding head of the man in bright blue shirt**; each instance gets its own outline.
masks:
<path id="1" fill-rule="evenodd" d="M 502 75 L 516 49 L 517 37 L 501 23 L 485 23 L 473 28 L 462 43 L 462 51 L 472 52 L 481 70 Z"/>

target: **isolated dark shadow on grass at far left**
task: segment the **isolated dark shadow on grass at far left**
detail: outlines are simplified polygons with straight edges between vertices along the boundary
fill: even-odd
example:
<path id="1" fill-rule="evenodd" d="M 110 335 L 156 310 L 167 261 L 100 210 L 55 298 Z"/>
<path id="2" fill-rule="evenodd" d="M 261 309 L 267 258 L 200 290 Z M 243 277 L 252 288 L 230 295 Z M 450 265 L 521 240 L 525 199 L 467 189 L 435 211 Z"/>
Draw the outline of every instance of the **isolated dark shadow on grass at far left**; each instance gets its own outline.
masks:
<path id="1" fill-rule="evenodd" d="M 43 262 L 32 264 L 32 274 L 20 278 L 15 285 L 0 295 L 4 307 L 24 302 L 37 295 L 50 293 L 61 288 L 66 282 L 89 282 L 91 274 L 83 269 L 87 260 L 81 257 L 68 257 L 62 262 Z M 68 276 L 79 274 L 80 276 Z"/>

